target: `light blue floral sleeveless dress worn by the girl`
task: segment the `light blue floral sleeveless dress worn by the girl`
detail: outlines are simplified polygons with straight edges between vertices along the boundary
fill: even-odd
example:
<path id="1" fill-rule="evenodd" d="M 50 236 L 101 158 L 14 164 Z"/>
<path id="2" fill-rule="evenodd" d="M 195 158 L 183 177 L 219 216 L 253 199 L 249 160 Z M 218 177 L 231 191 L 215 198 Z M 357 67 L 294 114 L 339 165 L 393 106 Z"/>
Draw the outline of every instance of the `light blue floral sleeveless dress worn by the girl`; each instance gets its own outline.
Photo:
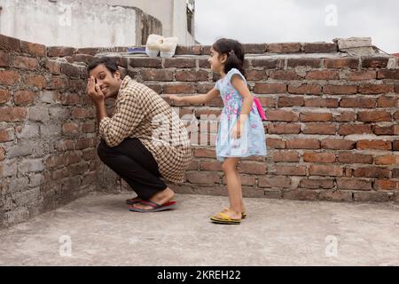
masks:
<path id="1" fill-rule="evenodd" d="M 215 142 L 216 157 L 219 161 L 224 161 L 226 157 L 265 156 L 267 154 L 263 122 L 255 104 L 252 105 L 251 112 L 246 119 L 241 138 L 231 138 L 231 129 L 235 127 L 239 119 L 243 103 L 239 91 L 231 85 L 231 77 L 235 74 L 240 75 L 246 83 L 244 75 L 238 69 L 232 68 L 215 85 L 224 104 Z"/>

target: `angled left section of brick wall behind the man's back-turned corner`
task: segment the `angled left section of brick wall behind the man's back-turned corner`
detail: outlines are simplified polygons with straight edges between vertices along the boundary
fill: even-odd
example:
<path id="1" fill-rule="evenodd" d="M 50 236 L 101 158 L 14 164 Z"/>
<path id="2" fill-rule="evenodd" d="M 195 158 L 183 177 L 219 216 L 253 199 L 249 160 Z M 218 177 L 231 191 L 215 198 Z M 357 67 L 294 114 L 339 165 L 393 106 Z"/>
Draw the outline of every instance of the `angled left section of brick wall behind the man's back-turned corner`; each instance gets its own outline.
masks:
<path id="1" fill-rule="evenodd" d="M 98 187 L 86 68 L 57 51 L 0 35 L 0 227 Z"/>

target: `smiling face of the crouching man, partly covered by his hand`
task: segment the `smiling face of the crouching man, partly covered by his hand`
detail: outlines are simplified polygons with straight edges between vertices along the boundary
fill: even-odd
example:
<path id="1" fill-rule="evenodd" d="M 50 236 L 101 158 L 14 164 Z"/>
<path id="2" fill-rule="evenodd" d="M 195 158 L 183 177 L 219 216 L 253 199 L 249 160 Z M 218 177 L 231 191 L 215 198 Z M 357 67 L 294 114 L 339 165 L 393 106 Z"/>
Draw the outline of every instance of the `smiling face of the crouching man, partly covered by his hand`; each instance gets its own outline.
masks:
<path id="1" fill-rule="evenodd" d="M 112 75 L 104 64 L 100 64 L 90 71 L 91 76 L 96 79 L 96 84 L 98 84 L 106 99 L 116 98 L 121 87 L 121 73 L 119 71 Z"/>

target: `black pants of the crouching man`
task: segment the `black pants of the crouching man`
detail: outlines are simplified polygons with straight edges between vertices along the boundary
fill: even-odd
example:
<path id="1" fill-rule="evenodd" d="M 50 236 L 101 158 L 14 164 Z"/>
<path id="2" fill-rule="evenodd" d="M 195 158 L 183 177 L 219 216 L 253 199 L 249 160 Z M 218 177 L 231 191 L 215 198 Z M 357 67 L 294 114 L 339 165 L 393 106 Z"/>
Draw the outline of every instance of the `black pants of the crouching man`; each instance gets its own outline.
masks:
<path id="1" fill-rule="evenodd" d="M 160 180 L 158 163 L 138 138 L 126 138 L 119 146 L 110 147 L 101 140 L 98 156 L 109 168 L 123 178 L 143 200 L 168 186 Z"/>

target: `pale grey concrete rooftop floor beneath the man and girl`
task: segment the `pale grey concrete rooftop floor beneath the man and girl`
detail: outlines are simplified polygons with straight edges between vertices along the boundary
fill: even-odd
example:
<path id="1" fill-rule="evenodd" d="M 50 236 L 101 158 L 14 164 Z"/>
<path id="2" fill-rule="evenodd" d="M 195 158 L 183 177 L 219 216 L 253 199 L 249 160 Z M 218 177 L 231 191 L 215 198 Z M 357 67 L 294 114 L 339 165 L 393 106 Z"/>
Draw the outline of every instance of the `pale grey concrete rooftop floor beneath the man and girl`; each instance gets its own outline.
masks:
<path id="1" fill-rule="evenodd" d="M 0 265 L 399 265 L 397 204 L 246 199 L 241 225 L 215 225 L 226 197 L 141 214 L 132 195 L 91 193 L 0 231 Z"/>

